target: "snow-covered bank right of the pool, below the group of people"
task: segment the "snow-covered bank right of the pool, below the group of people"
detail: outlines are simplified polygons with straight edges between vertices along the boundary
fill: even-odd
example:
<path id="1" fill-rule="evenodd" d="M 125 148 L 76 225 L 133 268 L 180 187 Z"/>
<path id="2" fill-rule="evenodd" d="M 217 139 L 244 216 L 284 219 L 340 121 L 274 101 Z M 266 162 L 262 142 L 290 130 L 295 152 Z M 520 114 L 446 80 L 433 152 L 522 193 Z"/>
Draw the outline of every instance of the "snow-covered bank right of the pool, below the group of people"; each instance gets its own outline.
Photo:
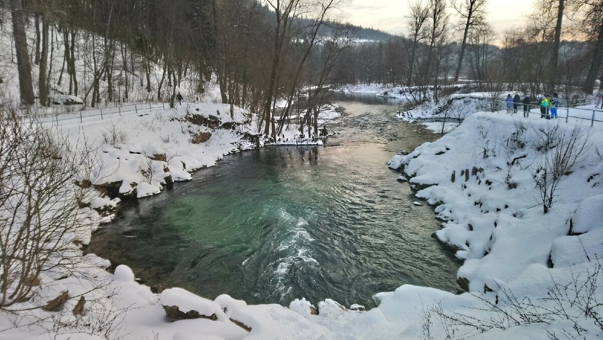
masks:
<path id="1" fill-rule="evenodd" d="M 436 142 L 391 160 L 417 197 L 436 206 L 445 222 L 435 235 L 464 260 L 459 285 L 482 305 L 436 307 L 435 339 L 451 329 L 485 330 L 481 338 L 488 339 L 601 335 L 602 310 L 592 302 L 603 300 L 601 150 L 598 127 L 476 113 Z M 560 309 L 566 314 L 551 313 Z"/>

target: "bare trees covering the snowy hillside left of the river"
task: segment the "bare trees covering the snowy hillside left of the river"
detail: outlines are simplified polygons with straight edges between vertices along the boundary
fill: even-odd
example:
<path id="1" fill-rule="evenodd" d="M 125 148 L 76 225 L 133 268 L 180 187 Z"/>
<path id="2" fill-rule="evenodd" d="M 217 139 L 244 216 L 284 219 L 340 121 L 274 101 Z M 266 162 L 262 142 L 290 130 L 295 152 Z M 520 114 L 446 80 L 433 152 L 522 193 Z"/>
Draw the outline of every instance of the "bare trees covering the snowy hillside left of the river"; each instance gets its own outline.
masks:
<path id="1" fill-rule="evenodd" d="M 147 98 L 173 105 L 183 81 L 203 93 L 215 77 L 222 102 L 249 109 L 268 136 L 276 137 L 293 118 L 302 131 L 318 134 L 324 94 L 341 52 L 352 44 L 353 28 L 329 21 L 339 2 L 10 0 L 21 99 L 34 104 L 37 92 L 39 104 L 48 105 L 52 85 L 63 84 L 95 106 L 127 101 L 138 81 Z M 33 42 L 25 34 L 31 25 Z M 57 65 L 53 51 L 63 52 Z M 37 91 L 31 61 L 39 64 Z M 85 75 L 77 74 L 78 65 Z M 155 68 L 161 70 L 156 79 Z M 48 75 L 58 69 L 51 81 Z M 301 95 L 305 105 L 294 107 Z"/>

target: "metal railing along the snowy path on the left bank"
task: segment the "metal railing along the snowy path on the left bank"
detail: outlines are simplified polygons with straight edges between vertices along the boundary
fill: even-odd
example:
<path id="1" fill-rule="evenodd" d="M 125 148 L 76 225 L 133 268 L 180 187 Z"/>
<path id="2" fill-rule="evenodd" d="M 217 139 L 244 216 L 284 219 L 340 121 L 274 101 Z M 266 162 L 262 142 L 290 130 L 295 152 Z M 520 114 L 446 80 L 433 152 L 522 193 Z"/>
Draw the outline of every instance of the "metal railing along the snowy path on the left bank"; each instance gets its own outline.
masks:
<path id="1" fill-rule="evenodd" d="M 27 124 L 28 122 L 32 122 L 33 119 L 39 123 L 52 123 L 58 125 L 59 122 L 63 121 L 74 121 L 79 120 L 80 123 L 83 123 L 89 118 L 100 117 L 101 119 L 109 118 L 111 116 L 134 116 L 139 115 L 140 113 L 151 113 L 153 110 L 166 108 L 166 103 L 152 103 L 145 102 L 142 104 L 130 104 L 130 105 L 116 105 L 115 107 L 103 107 L 102 109 L 92 109 L 92 110 L 80 110 L 75 112 L 68 113 L 53 113 L 50 115 L 21 115 L 22 124 Z M 92 120 L 92 119 L 90 119 Z"/>

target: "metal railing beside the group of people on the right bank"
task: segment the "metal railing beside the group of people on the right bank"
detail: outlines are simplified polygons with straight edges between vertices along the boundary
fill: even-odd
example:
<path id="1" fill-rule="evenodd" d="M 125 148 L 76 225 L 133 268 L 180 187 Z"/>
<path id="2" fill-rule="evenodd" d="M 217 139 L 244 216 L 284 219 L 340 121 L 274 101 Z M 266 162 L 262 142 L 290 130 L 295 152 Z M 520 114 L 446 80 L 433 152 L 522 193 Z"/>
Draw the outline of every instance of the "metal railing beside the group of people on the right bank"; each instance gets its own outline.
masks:
<path id="1" fill-rule="evenodd" d="M 487 110 L 491 112 L 501 112 L 511 110 L 511 113 L 514 114 L 516 109 L 511 107 L 511 109 L 507 108 L 507 102 L 503 99 L 486 99 L 489 102 L 489 107 Z M 515 103 L 514 103 L 515 104 Z M 520 102 L 517 104 L 517 114 L 524 113 L 523 107 L 526 104 Z M 537 110 L 537 111 L 536 111 Z M 572 114 L 573 112 L 573 114 Z M 584 115 L 576 116 L 576 112 L 584 112 Z M 536 102 L 532 102 L 528 104 L 528 115 L 540 115 L 541 118 L 551 119 L 551 108 L 546 109 L 545 114 L 543 115 L 540 112 L 540 105 Z M 565 115 L 562 115 L 565 113 Z M 581 107 L 557 107 L 557 119 L 565 119 L 566 122 L 569 122 L 569 119 L 582 119 L 584 121 L 590 121 L 590 126 L 595 125 L 595 122 L 603 123 L 603 110 L 602 109 L 584 109 Z"/>

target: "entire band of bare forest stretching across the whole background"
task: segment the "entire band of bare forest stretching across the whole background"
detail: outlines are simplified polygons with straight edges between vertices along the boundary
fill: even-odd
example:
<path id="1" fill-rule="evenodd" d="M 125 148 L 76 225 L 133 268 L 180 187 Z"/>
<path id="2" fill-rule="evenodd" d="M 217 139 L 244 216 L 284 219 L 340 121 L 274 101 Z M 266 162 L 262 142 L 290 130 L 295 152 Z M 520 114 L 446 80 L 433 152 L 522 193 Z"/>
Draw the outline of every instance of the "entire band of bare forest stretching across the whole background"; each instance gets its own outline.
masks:
<path id="1" fill-rule="evenodd" d="M 570 99 L 591 94 L 603 77 L 601 1 L 538 0 L 523 27 L 496 34 L 486 0 L 418 0 L 409 4 L 406 36 L 336 22 L 341 4 L 10 0 L 2 5 L 11 25 L 2 30 L 13 39 L 22 104 L 47 106 L 63 89 L 91 107 L 141 99 L 173 105 L 180 87 L 201 94 L 215 81 L 223 103 L 248 109 L 273 137 L 293 113 L 302 131 L 316 130 L 325 93 L 342 84 L 437 89 L 464 81 Z M 134 93 L 135 83 L 146 93 Z"/>

